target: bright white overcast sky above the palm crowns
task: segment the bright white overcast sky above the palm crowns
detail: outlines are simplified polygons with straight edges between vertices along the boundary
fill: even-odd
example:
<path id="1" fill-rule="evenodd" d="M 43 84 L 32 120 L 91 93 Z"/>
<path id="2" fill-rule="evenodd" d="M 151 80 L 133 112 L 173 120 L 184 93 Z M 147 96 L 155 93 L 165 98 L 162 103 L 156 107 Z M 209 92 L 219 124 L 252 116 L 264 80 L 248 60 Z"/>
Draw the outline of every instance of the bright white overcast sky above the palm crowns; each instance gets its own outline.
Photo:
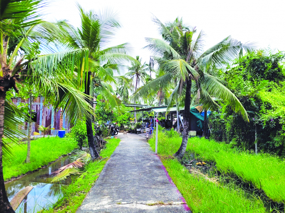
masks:
<path id="1" fill-rule="evenodd" d="M 231 35 L 245 42 L 257 42 L 258 47 L 285 50 L 284 6 L 285 1 L 274 0 L 180 0 L 180 1 L 124 1 L 124 0 L 80 0 L 86 9 L 100 10 L 106 7 L 118 12 L 123 27 L 119 30 L 112 45 L 125 42 L 134 48 L 133 56 L 139 55 L 143 62 L 149 62 L 149 51 L 145 37 L 160 38 L 157 26 L 151 21 L 154 14 L 160 21 L 172 21 L 182 17 L 190 26 L 203 30 L 205 48 Z M 70 24 L 80 26 L 80 16 L 74 0 L 54 0 L 45 9 L 46 20 L 67 19 Z"/>

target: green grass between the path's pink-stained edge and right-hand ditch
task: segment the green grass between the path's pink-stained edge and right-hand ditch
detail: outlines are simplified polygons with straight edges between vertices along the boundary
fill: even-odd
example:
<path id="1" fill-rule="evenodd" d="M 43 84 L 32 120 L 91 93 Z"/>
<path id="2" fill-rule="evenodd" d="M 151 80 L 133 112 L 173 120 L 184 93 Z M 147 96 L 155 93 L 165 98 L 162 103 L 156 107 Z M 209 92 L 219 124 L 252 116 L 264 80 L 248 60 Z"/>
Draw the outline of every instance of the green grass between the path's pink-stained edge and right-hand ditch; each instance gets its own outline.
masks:
<path id="1" fill-rule="evenodd" d="M 155 137 L 150 146 L 154 150 Z M 158 154 L 160 154 L 169 176 L 182 193 L 186 203 L 193 212 L 265 212 L 260 199 L 248 199 L 245 192 L 234 186 L 221 186 L 198 179 L 177 160 L 166 156 L 175 153 L 181 144 L 179 137 L 168 138 L 162 132 L 158 135 Z M 189 149 L 190 144 L 188 145 Z"/>

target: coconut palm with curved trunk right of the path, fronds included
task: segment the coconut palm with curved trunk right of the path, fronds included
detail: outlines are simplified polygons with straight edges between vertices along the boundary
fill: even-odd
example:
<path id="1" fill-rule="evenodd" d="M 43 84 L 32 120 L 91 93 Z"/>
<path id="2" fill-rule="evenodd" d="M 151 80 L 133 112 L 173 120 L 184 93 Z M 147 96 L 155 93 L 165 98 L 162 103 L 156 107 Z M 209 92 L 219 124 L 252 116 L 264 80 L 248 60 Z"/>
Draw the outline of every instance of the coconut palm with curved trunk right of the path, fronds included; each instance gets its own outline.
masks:
<path id="1" fill-rule="evenodd" d="M 175 105 L 178 100 L 184 100 L 183 139 L 180 148 L 174 154 L 176 158 L 182 159 L 188 141 L 192 97 L 195 96 L 195 100 L 200 100 L 201 97 L 201 102 L 207 101 L 205 103 L 211 103 L 213 108 L 217 108 L 217 104 L 212 97 L 228 101 L 235 112 L 240 113 L 245 120 L 248 120 L 247 112 L 237 97 L 226 87 L 225 82 L 207 73 L 207 68 L 222 66 L 223 63 L 237 55 L 241 56 L 243 49 L 251 51 L 252 46 L 251 44 L 242 44 L 228 36 L 203 51 L 203 31 L 195 39 L 196 28 L 190 29 L 185 26 L 182 19 L 177 18 L 174 22 L 168 22 L 166 25 L 156 17 L 153 18 L 153 21 L 159 26 L 159 32 L 163 39 L 147 38 L 146 41 L 149 45 L 145 48 L 155 54 L 154 60 L 168 72 L 156 78 L 155 81 L 149 82 L 145 87 L 158 90 L 159 87 L 166 86 L 173 79 L 177 79 L 168 106 Z M 197 87 L 195 94 L 192 92 L 192 84 Z M 137 92 L 135 96 L 147 92 L 146 88 L 142 89 L 141 93 Z"/>

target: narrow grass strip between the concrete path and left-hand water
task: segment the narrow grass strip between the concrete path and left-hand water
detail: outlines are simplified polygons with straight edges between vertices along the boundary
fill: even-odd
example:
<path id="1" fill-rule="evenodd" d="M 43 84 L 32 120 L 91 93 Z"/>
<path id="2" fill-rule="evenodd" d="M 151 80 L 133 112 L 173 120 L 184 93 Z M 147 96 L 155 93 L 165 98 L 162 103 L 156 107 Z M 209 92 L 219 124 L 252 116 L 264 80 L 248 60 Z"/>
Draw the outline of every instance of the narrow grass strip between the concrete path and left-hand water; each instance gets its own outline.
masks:
<path id="1" fill-rule="evenodd" d="M 79 178 L 77 178 L 73 183 L 68 185 L 66 188 L 62 187 L 63 197 L 58 200 L 54 207 L 50 210 L 42 210 L 42 213 L 73 213 L 76 212 L 78 207 L 82 204 L 82 201 L 86 197 L 91 187 L 94 185 L 96 179 L 99 177 L 100 172 L 104 168 L 108 158 L 115 151 L 116 147 L 119 145 L 120 139 L 110 139 L 106 144 L 106 148 L 100 153 L 104 160 L 97 160 L 89 163 L 84 172 Z"/>

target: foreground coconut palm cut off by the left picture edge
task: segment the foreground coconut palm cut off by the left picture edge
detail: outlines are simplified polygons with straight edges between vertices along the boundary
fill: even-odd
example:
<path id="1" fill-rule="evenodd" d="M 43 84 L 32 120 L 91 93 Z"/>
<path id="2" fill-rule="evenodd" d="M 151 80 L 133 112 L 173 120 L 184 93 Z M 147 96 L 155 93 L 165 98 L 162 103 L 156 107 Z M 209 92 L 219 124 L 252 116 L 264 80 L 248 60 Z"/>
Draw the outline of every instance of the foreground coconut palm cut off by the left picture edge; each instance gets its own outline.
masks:
<path id="1" fill-rule="evenodd" d="M 37 49 L 53 51 L 65 36 L 58 26 L 62 22 L 50 23 L 40 19 L 36 12 L 45 6 L 42 0 L 1 1 L 0 13 L 0 209 L 14 212 L 5 191 L 2 159 L 9 154 L 3 135 L 14 140 L 15 135 L 24 135 L 19 128 L 21 112 L 6 98 L 7 91 L 19 91 L 17 84 L 30 83 L 55 108 L 62 106 L 66 117 L 76 122 L 78 117 L 91 111 L 85 101 L 87 95 L 74 89 L 69 77 L 74 66 L 85 70 L 88 66 L 88 49 L 72 49 L 59 53 L 34 57 Z M 49 45 L 53 43 L 54 45 Z M 3 143 L 4 142 L 4 143 Z M 11 152 L 10 152 L 11 153 Z M 4 154 L 4 155 L 3 155 Z"/>

